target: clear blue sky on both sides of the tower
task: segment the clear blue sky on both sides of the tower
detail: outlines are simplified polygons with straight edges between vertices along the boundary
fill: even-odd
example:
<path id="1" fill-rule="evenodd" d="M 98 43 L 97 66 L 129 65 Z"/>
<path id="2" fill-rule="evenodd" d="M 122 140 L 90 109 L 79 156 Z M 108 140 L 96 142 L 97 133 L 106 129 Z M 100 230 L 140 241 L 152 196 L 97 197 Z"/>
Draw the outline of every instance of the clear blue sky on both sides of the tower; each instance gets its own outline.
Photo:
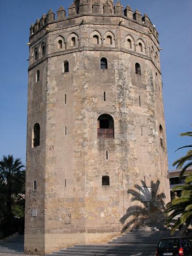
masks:
<path id="1" fill-rule="evenodd" d="M 65 0 L 0 0 L 0 158 L 13 154 L 26 161 L 26 120 L 29 27 L 31 23 Z M 160 34 L 161 69 L 166 120 L 169 169 L 185 150 L 177 147 L 191 143 L 179 134 L 192 131 L 192 1 L 191 0 L 123 0 L 133 10 L 138 8 L 151 18 Z"/>

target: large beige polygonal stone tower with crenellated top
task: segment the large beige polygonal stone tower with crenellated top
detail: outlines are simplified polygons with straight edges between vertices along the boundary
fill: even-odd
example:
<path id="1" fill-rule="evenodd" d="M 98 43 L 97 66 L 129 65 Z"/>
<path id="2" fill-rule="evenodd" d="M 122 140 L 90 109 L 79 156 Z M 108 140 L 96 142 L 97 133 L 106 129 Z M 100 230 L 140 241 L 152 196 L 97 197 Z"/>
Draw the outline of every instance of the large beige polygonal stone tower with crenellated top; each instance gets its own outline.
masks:
<path id="1" fill-rule="evenodd" d="M 109 241 L 156 203 L 152 184 L 169 201 L 158 32 L 119 1 L 80 0 L 37 19 L 29 45 L 25 251 Z"/>

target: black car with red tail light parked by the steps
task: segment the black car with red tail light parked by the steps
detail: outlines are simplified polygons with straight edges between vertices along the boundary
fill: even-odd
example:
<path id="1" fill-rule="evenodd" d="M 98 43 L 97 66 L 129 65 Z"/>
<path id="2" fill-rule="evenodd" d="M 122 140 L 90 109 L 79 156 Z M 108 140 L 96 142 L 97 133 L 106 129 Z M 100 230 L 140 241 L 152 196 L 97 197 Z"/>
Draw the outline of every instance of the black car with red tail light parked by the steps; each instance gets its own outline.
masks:
<path id="1" fill-rule="evenodd" d="M 192 237 L 173 237 L 160 240 L 156 256 L 192 256 Z"/>

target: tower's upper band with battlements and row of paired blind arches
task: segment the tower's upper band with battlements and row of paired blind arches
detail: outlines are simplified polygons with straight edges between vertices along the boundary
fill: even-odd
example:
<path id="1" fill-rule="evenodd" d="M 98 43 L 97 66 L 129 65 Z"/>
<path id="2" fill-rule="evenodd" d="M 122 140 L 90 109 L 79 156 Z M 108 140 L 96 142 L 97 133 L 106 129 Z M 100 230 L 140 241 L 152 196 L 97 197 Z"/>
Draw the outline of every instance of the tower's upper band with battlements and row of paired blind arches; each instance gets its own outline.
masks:
<path id="1" fill-rule="evenodd" d="M 147 14 L 120 1 L 75 0 L 68 16 L 61 6 L 57 15 L 49 10 L 31 25 L 29 66 L 58 53 L 110 47 L 150 59 L 160 71 L 158 35 Z"/>

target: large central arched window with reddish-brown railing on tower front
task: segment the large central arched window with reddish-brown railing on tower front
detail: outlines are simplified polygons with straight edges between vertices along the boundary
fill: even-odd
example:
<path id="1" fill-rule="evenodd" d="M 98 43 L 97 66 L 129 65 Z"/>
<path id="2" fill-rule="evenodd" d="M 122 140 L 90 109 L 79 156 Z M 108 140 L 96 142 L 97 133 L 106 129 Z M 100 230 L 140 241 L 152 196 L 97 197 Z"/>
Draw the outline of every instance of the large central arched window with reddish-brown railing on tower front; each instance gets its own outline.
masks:
<path id="1" fill-rule="evenodd" d="M 114 138 L 114 120 L 108 114 L 102 114 L 97 119 L 97 137 L 98 139 Z"/>

